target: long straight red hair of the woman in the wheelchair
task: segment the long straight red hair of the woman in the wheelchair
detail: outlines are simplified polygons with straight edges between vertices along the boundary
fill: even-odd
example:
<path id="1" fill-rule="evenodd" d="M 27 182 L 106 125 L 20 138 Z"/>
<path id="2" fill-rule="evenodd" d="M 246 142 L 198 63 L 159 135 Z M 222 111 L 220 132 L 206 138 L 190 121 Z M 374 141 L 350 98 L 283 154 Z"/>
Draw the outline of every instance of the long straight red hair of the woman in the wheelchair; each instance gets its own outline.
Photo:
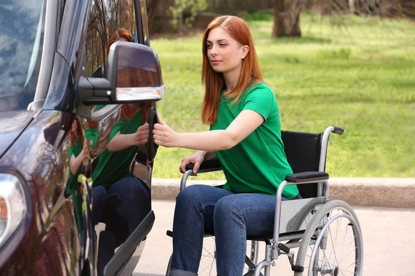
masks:
<path id="1" fill-rule="evenodd" d="M 216 17 L 209 23 L 208 28 L 203 35 L 203 63 L 202 63 L 202 83 L 205 86 L 205 97 L 202 105 L 202 121 L 204 124 L 213 125 L 218 117 L 219 101 L 221 99 L 221 90 L 225 89 L 225 79 L 221 72 L 215 72 L 210 66 L 208 57 L 208 46 L 206 41 L 210 30 L 214 28 L 223 28 L 230 36 L 241 43 L 249 46 L 248 55 L 242 60 L 241 75 L 237 87 L 227 95 L 233 99 L 232 103 L 237 103 L 243 91 L 246 88 L 262 82 L 262 74 L 259 68 L 257 53 L 255 52 L 254 41 L 249 30 L 248 24 L 239 17 L 222 16 Z"/>

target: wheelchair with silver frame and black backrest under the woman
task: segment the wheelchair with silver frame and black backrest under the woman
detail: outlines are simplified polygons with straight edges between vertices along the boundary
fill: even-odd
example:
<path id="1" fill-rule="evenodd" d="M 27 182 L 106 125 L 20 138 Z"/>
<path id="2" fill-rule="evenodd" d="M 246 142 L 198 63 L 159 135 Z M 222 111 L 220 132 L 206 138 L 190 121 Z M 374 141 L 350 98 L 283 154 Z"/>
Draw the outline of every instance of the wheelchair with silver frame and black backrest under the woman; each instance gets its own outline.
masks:
<path id="1" fill-rule="evenodd" d="M 337 126 L 329 126 L 322 133 L 282 130 L 284 151 L 293 174 L 278 186 L 273 234 L 247 237 L 244 275 L 269 276 L 270 266 L 275 266 L 280 255 L 288 257 L 295 276 L 362 275 L 363 241 L 358 217 L 344 201 L 329 201 L 329 174 L 325 166 L 331 132 L 342 135 L 344 130 Z M 180 190 L 185 188 L 193 166 L 186 166 Z M 198 174 L 217 170 L 221 170 L 219 160 L 205 160 Z M 282 190 L 293 184 L 302 199 L 282 201 Z M 168 230 L 167 235 L 172 237 L 172 231 Z M 205 229 L 205 237 L 214 238 L 214 233 Z M 264 260 L 258 262 L 260 242 L 266 244 L 266 250 Z M 295 252 L 293 248 L 298 249 Z M 203 250 L 207 250 L 205 244 Z M 166 275 L 169 267 L 170 262 Z M 202 254 L 199 275 L 216 275 L 214 250 Z"/>

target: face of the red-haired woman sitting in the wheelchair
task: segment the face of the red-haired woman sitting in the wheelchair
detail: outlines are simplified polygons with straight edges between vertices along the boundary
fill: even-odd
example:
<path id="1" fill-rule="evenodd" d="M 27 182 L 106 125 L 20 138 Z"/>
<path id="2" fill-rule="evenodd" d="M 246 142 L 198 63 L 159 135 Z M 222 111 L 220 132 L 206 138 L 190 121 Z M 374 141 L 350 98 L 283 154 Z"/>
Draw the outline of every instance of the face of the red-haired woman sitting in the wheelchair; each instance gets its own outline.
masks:
<path id="1" fill-rule="evenodd" d="M 227 73 L 241 70 L 242 60 L 248 54 L 249 47 L 233 39 L 221 27 L 210 30 L 206 40 L 210 66 L 216 72 Z"/>

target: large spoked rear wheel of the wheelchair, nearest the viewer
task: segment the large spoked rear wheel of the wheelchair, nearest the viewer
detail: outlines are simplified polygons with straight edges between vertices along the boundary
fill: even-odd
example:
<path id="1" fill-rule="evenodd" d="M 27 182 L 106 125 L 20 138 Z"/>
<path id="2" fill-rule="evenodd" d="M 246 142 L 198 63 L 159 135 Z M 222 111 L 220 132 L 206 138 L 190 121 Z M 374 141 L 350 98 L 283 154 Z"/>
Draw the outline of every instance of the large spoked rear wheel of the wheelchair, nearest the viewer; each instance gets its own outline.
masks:
<path id="1" fill-rule="evenodd" d="M 318 210 L 304 233 L 295 264 L 304 267 L 308 276 L 362 275 L 362 233 L 349 204 L 334 200 Z"/>

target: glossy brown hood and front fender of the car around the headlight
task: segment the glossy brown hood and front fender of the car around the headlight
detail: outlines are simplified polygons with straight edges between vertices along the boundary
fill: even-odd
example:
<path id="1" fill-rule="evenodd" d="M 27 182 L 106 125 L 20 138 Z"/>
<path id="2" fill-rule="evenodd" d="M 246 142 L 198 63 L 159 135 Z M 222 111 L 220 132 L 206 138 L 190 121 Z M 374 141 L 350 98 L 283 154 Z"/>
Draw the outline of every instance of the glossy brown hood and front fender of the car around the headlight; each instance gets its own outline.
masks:
<path id="1" fill-rule="evenodd" d="M 0 167 L 19 168 L 34 210 L 26 235 L 1 275 L 77 275 L 80 271 L 81 264 L 74 260 L 82 259 L 82 233 L 76 227 L 73 201 L 65 195 L 73 117 L 70 112 L 40 112 L 0 159 Z"/>

